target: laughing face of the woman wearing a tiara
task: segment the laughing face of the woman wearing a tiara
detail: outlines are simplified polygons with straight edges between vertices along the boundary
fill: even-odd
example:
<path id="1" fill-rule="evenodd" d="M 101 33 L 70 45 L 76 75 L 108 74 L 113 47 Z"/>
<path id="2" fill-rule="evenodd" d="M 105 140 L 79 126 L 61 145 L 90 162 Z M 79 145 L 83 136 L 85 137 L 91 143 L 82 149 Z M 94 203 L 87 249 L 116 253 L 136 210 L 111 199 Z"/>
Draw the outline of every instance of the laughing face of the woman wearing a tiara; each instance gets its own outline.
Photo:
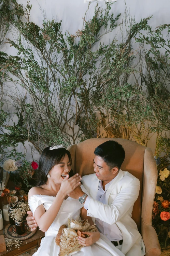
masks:
<path id="1" fill-rule="evenodd" d="M 65 154 L 64 159 L 58 165 L 50 170 L 50 178 L 55 183 L 61 184 L 65 176 L 70 172 L 71 164 L 68 155 Z"/>

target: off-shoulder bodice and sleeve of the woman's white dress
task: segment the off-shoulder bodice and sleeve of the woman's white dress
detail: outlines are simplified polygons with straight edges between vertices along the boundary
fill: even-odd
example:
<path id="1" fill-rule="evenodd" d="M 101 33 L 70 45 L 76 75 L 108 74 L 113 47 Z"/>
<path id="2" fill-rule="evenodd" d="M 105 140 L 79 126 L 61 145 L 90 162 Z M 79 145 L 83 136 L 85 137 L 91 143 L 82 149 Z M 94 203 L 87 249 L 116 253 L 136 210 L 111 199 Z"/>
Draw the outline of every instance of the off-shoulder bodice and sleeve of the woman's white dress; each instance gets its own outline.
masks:
<path id="1" fill-rule="evenodd" d="M 43 204 L 45 210 L 47 211 L 50 208 L 54 199 L 55 199 L 54 196 L 45 196 L 45 195 L 34 195 L 30 197 L 28 203 L 33 213 L 33 216 L 34 216 L 35 210 L 41 204 Z M 55 217 L 48 231 L 45 232 L 45 235 L 57 234 L 61 225 L 63 224 L 67 225 L 68 218 L 76 219 L 80 215 L 80 209 L 83 206 L 84 205 L 81 205 L 77 199 L 72 199 L 68 197 L 66 200 L 64 200 L 60 207 L 59 213 Z"/>

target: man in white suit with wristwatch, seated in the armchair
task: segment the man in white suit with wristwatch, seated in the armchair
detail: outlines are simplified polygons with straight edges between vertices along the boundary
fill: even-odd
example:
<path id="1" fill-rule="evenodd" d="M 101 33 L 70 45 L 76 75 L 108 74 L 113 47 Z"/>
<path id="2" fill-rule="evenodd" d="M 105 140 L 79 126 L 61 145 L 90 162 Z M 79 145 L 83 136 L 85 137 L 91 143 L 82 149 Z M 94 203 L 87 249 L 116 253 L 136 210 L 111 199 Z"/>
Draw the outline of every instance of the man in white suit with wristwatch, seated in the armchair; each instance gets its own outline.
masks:
<path id="1" fill-rule="evenodd" d="M 91 216 L 99 232 L 104 234 L 126 256 L 145 255 L 145 246 L 135 221 L 131 218 L 139 195 L 140 182 L 132 174 L 120 169 L 125 158 L 123 147 L 116 141 L 106 141 L 94 151 L 95 174 L 82 177 L 85 189 L 75 189 L 70 197 L 84 197 L 84 208 Z M 88 194 L 88 195 L 87 195 Z M 28 216 L 28 225 L 33 228 L 34 217 Z M 31 220 L 32 219 L 32 220 Z M 91 244 L 95 242 L 91 239 Z M 89 238 L 79 238 L 84 246 Z"/>

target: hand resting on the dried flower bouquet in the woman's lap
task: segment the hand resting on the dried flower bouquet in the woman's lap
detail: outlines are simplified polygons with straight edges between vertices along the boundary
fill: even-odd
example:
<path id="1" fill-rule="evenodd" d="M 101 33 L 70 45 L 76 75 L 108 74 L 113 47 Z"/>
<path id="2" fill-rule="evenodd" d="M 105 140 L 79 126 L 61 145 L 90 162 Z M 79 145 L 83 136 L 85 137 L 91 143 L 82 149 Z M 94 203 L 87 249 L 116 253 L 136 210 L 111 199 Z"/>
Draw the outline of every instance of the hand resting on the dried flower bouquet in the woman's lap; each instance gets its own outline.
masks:
<path id="1" fill-rule="evenodd" d="M 97 242 L 100 238 L 100 233 L 97 232 L 81 232 L 82 234 L 87 234 L 89 235 L 89 237 L 84 238 L 82 236 L 78 236 L 78 241 L 79 244 L 83 245 L 83 246 L 91 246 L 92 244 L 94 244 L 95 242 Z"/>

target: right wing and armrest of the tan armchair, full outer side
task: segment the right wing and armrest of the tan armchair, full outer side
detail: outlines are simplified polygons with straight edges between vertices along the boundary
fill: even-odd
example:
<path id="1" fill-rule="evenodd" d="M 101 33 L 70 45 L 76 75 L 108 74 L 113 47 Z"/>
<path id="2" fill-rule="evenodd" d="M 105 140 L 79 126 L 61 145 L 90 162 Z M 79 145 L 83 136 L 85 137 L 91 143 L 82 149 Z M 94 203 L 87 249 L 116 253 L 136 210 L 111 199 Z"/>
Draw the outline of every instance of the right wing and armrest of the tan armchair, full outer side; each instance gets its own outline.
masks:
<path id="1" fill-rule="evenodd" d="M 145 149 L 143 171 L 141 235 L 146 247 L 146 256 L 159 256 L 161 255 L 161 247 L 156 231 L 152 227 L 152 208 L 158 172 L 155 159 L 149 148 Z"/>

